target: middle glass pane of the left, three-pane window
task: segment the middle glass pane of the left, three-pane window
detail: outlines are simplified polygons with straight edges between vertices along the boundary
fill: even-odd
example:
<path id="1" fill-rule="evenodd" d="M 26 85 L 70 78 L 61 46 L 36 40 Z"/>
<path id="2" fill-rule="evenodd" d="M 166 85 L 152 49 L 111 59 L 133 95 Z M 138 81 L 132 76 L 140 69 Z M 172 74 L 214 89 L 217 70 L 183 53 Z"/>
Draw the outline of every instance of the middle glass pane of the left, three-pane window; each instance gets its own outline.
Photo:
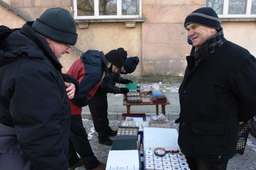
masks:
<path id="1" fill-rule="evenodd" d="M 99 15 L 116 15 L 116 0 L 99 0 Z"/>

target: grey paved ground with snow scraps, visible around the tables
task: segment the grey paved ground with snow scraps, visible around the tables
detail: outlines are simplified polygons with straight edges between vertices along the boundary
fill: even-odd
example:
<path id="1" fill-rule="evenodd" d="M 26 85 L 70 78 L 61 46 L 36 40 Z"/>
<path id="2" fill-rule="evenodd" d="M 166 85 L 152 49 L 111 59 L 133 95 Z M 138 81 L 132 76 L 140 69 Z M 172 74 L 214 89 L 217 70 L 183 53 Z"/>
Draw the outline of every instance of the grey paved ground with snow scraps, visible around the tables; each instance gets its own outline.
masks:
<path id="1" fill-rule="evenodd" d="M 143 84 L 144 85 L 144 84 Z M 173 128 L 178 129 L 178 124 L 175 124 L 180 113 L 180 103 L 178 88 L 180 84 L 165 84 L 160 85 L 160 88 L 164 91 L 166 97 L 170 101 L 170 105 L 166 105 L 166 118 L 169 119 Z M 123 85 L 122 85 L 123 87 Z M 108 94 L 108 118 L 110 119 L 110 126 L 116 130 L 120 124 L 122 113 L 126 113 L 126 107 L 122 105 L 123 95 L 120 94 Z M 131 113 L 146 113 L 147 116 L 155 115 L 155 106 L 131 106 Z M 161 113 L 161 107 L 159 107 L 159 113 Z M 98 143 L 96 132 L 94 132 L 93 123 L 90 120 L 91 115 L 88 106 L 83 108 L 82 117 L 84 127 L 87 133 L 91 136 L 90 144 L 92 146 L 95 156 L 102 162 L 107 162 L 108 151 L 111 149 L 109 146 L 105 146 Z M 114 139 L 114 137 L 111 137 Z M 76 170 L 85 170 L 84 167 L 78 167 Z M 256 170 L 256 138 L 249 135 L 245 151 L 243 155 L 236 154 L 228 163 L 227 170 Z"/>

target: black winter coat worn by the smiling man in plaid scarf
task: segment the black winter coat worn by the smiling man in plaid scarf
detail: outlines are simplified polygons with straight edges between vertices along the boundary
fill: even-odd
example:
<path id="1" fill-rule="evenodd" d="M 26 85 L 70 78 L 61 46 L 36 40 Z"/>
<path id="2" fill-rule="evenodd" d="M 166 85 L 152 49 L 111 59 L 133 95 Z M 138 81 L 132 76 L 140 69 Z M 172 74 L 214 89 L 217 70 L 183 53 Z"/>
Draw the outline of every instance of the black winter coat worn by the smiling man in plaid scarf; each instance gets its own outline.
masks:
<path id="1" fill-rule="evenodd" d="M 231 158 L 236 153 L 239 121 L 256 113 L 256 59 L 229 41 L 212 54 L 201 51 L 198 60 L 186 59 L 179 88 L 180 149 L 205 159 Z"/>

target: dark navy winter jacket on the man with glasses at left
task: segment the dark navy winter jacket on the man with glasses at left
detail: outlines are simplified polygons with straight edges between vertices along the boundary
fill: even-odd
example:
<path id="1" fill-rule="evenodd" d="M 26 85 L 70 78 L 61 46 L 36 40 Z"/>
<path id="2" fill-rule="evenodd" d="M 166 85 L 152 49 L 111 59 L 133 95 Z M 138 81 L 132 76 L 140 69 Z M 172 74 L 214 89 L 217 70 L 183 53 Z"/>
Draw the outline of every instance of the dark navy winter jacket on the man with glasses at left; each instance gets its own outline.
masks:
<path id="1" fill-rule="evenodd" d="M 31 25 L 1 37 L 0 123 L 15 128 L 10 137 L 33 169 L 67 170 L 71 114 L 62 66 Z"/>

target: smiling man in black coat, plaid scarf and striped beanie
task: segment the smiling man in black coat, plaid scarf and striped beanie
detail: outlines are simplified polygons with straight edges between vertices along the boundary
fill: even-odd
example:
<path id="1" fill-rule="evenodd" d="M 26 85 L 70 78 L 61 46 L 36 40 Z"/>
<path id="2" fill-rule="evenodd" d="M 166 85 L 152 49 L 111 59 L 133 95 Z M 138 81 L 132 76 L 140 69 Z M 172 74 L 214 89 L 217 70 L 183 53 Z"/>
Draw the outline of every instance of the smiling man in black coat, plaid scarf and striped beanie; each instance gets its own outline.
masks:
<path id="1" fill-rule="evenodd" d="M 179 88 L 178 144 L 191 170 L 226 170 L 239 122 L 256 113 L 256 59 L 224 38 L 212 8 L 193 11 L 184 27 L 193 47 Z"/>

